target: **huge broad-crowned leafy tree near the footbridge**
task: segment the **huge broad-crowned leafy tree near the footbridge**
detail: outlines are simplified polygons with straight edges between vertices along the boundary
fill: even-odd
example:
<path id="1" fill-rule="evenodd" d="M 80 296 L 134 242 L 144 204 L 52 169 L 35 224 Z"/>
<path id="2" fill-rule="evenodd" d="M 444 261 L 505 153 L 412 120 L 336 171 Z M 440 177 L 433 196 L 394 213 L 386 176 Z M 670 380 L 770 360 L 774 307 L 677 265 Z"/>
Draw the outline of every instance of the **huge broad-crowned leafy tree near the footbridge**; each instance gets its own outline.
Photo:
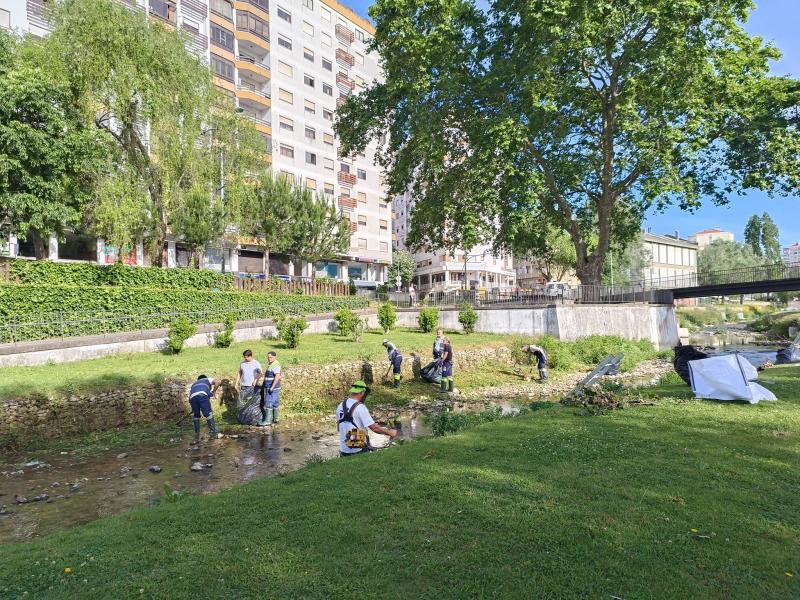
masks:
<path id="1" fill-rule="evenodd" d="M 472 247 L 518 213 L 567 232 L 583 283 L 649 209 L 800 180 L 798 86 L 742 29 L 751 0 L 378 0 L 385 79 L 337 111 L 342 152 L 388 142 L 410 240 Z M 537 226 L 534 224 L 534 226 Z"/>

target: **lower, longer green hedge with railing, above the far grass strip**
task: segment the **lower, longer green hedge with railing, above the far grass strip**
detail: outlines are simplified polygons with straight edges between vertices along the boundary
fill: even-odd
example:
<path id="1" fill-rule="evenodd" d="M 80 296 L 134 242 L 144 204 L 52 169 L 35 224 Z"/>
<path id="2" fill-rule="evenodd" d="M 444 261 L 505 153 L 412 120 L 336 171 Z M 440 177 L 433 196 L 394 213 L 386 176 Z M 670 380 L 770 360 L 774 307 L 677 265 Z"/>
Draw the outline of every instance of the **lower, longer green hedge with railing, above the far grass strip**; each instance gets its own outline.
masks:
<path id="1" fill-rule="evenodd" d="M 179 315 L 193 323 L 265 319 L 366 308 L 358 296 L 325 297 L 136 287 L 0 285 L 0 343 L 166 327 Z"/>

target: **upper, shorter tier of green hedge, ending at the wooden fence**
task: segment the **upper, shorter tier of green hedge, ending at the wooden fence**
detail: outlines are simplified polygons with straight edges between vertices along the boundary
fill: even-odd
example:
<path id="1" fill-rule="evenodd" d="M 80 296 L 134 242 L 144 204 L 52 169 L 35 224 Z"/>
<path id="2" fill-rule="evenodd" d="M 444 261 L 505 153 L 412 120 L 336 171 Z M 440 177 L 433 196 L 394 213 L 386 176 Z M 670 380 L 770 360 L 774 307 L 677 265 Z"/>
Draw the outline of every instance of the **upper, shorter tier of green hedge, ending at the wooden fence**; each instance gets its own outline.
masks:
<path id="1" fill-rule="evenodd" d="M 230 290 L 233 275 L 208 269 L 162 269 L 125 265 L 10 261 L 11 281 L 30 285 L 127 286 L 183 290 Z"/>

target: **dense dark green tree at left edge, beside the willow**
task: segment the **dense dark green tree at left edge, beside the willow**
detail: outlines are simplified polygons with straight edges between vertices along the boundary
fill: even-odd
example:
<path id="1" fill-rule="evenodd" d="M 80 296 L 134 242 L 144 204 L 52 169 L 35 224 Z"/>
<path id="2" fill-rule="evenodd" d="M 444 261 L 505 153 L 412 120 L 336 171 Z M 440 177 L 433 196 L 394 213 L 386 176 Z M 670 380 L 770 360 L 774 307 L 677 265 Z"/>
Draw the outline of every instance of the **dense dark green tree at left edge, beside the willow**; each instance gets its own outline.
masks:
<path id="1" fill-rule="evenodd" d="M 110 146 L 24 46 L 0 28 L 0 230 L 44 258 L 49 234 L 81 224 Z"/>

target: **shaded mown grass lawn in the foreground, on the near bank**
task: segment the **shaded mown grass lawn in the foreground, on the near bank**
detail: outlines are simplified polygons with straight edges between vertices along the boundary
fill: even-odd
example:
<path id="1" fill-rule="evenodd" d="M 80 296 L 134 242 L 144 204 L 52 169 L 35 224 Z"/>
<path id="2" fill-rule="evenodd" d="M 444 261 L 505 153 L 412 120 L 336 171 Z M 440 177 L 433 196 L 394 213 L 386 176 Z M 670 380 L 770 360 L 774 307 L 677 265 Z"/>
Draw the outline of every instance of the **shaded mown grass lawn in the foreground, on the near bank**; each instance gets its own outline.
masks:
<path id="1" fill-rule="evenodd" d="M 800 368 L 763 377 L 779 402 L 554 406 L 2 546 L 0 596 L 797 598 Z"/>

